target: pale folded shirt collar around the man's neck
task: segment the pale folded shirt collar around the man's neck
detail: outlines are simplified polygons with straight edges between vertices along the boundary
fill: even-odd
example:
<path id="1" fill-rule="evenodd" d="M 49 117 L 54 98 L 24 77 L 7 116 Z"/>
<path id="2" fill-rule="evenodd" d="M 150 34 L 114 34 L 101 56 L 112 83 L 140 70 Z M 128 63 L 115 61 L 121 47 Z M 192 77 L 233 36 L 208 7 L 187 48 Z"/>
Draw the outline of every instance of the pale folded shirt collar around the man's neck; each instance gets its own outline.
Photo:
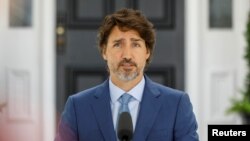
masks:
<path id="1" fill-rule="evenodd" d="M 137 101 L 140 102 L 142 99 L 144 86 L 145 86 L 145 78 L 142 77 L 142 80 L 134 88 L 132 88 L 130 91 L 128 91 L 127 93 L 132 95 Z M 115 103 L 116 101 L 118 101 L 120 96 L 122 94 L 126 93 L 124 90 L 117 87 L 111 81 L 111 79 L 109 79 L 109 90 L 110 90 L 110 97 L 111 97 L 112 103 Z"/>

